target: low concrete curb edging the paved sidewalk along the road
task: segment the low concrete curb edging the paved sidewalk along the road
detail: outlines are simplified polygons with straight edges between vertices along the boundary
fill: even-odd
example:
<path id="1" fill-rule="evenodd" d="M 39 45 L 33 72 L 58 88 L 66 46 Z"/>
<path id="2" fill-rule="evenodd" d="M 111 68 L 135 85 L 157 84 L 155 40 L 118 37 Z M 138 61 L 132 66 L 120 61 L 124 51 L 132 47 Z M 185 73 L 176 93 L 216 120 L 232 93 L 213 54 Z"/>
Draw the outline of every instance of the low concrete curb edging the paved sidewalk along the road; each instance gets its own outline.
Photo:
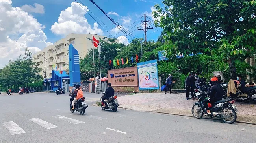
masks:
<path id="1" fill-rule="evenodd" d="M 151 112 L 193 117 L 191 110 L 186 110 L 186 109 L 160 108 L 160 109 L 152 110 Z M 203 116 L 202 118 L 217 119 L 217 118 L 210 118 L 206 116 Z M 256 116 L 237 114 L 236 122 L 256 125 Z"/>

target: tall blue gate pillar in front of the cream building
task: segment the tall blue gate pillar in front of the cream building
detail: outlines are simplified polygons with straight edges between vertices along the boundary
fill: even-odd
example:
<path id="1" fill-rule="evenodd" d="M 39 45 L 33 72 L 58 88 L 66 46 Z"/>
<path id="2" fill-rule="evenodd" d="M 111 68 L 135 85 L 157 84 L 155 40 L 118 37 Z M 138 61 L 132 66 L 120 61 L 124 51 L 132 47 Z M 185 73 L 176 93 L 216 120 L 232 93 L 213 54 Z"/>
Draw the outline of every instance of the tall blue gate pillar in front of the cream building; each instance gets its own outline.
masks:
<path id="1" fill-rule="evenodd" d="M 79 54 L 72 44 L 69 45 L 69 86 L 74 84 L 80 84 L 80 66 L 79 66 Z"/>

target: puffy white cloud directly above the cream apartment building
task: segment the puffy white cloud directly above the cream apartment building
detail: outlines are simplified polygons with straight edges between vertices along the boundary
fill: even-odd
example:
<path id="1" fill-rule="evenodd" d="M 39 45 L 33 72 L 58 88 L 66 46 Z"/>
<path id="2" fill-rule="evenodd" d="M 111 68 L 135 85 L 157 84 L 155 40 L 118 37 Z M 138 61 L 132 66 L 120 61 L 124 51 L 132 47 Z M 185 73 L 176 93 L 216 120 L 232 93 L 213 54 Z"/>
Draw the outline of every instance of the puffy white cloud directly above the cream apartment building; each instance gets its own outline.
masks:
<path id="1" fill-rule="evenodd" d="M 93 24 L 93 28 L 91 27 L 84 16 L 89 10 L 86 6 L 82 6 L 82 9 L 80 5 L 72 2 L 71 7 L 61 11 L 58 22 L 55 22 L 51 27 L 52 33 L 66 36 L 74 33 L 76 29 L 76 33 L 78 34 L 87 34 L 90 32 L 91 34 L 103 35 L 103 31 L 98 28 L 97 23 Z"/>

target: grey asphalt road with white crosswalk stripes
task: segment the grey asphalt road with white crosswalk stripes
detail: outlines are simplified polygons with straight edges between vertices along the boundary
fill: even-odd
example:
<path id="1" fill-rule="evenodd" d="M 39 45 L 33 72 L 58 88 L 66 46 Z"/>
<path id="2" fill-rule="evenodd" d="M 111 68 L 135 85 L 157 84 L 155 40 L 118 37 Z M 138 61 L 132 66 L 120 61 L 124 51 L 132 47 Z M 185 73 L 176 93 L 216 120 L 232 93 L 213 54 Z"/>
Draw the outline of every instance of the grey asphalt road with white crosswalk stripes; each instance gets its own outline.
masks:
<path id="1" fill-rule="evenodd" d="M 100 95 L 85 94 L 87 103 Z M 117 98 L 118 99 L 118 98 Z M 256 126 L 89 106 L 69 110 L 70 97 L 0 95 L 0 143 L 255 143 Z"/>

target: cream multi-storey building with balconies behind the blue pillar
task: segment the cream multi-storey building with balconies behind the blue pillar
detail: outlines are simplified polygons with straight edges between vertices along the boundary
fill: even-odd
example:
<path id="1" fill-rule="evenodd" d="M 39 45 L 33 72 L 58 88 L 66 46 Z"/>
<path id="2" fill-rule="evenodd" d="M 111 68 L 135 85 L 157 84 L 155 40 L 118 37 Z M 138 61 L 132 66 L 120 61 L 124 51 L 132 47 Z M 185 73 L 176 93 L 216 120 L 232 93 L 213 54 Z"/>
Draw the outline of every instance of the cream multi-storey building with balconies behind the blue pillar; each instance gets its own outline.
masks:
<path id="1" fill-rule="evenodd" d="M 92 39 L 93 36 L 97 40 L 105 37 L 92 34 L 69 34 L 66 38 L 58 40 L 53 45 L 49 45 L 33 54 L 33 60 L 38 64 L 39 68 L 42 69 L 40 74 L 43 78 L 51 78 L 52 70 L 56 70 L 56 67 L 58 69 L 61 68 L 61 70 L 66 70 L 66 68 L 69 67 L 69 45 L 71 43 L 74 48 L 78 50 L 79 58 L 84 58 L 89 52 L 89 49 L 93 47 L 91 40 L 87 38 Z"/>

